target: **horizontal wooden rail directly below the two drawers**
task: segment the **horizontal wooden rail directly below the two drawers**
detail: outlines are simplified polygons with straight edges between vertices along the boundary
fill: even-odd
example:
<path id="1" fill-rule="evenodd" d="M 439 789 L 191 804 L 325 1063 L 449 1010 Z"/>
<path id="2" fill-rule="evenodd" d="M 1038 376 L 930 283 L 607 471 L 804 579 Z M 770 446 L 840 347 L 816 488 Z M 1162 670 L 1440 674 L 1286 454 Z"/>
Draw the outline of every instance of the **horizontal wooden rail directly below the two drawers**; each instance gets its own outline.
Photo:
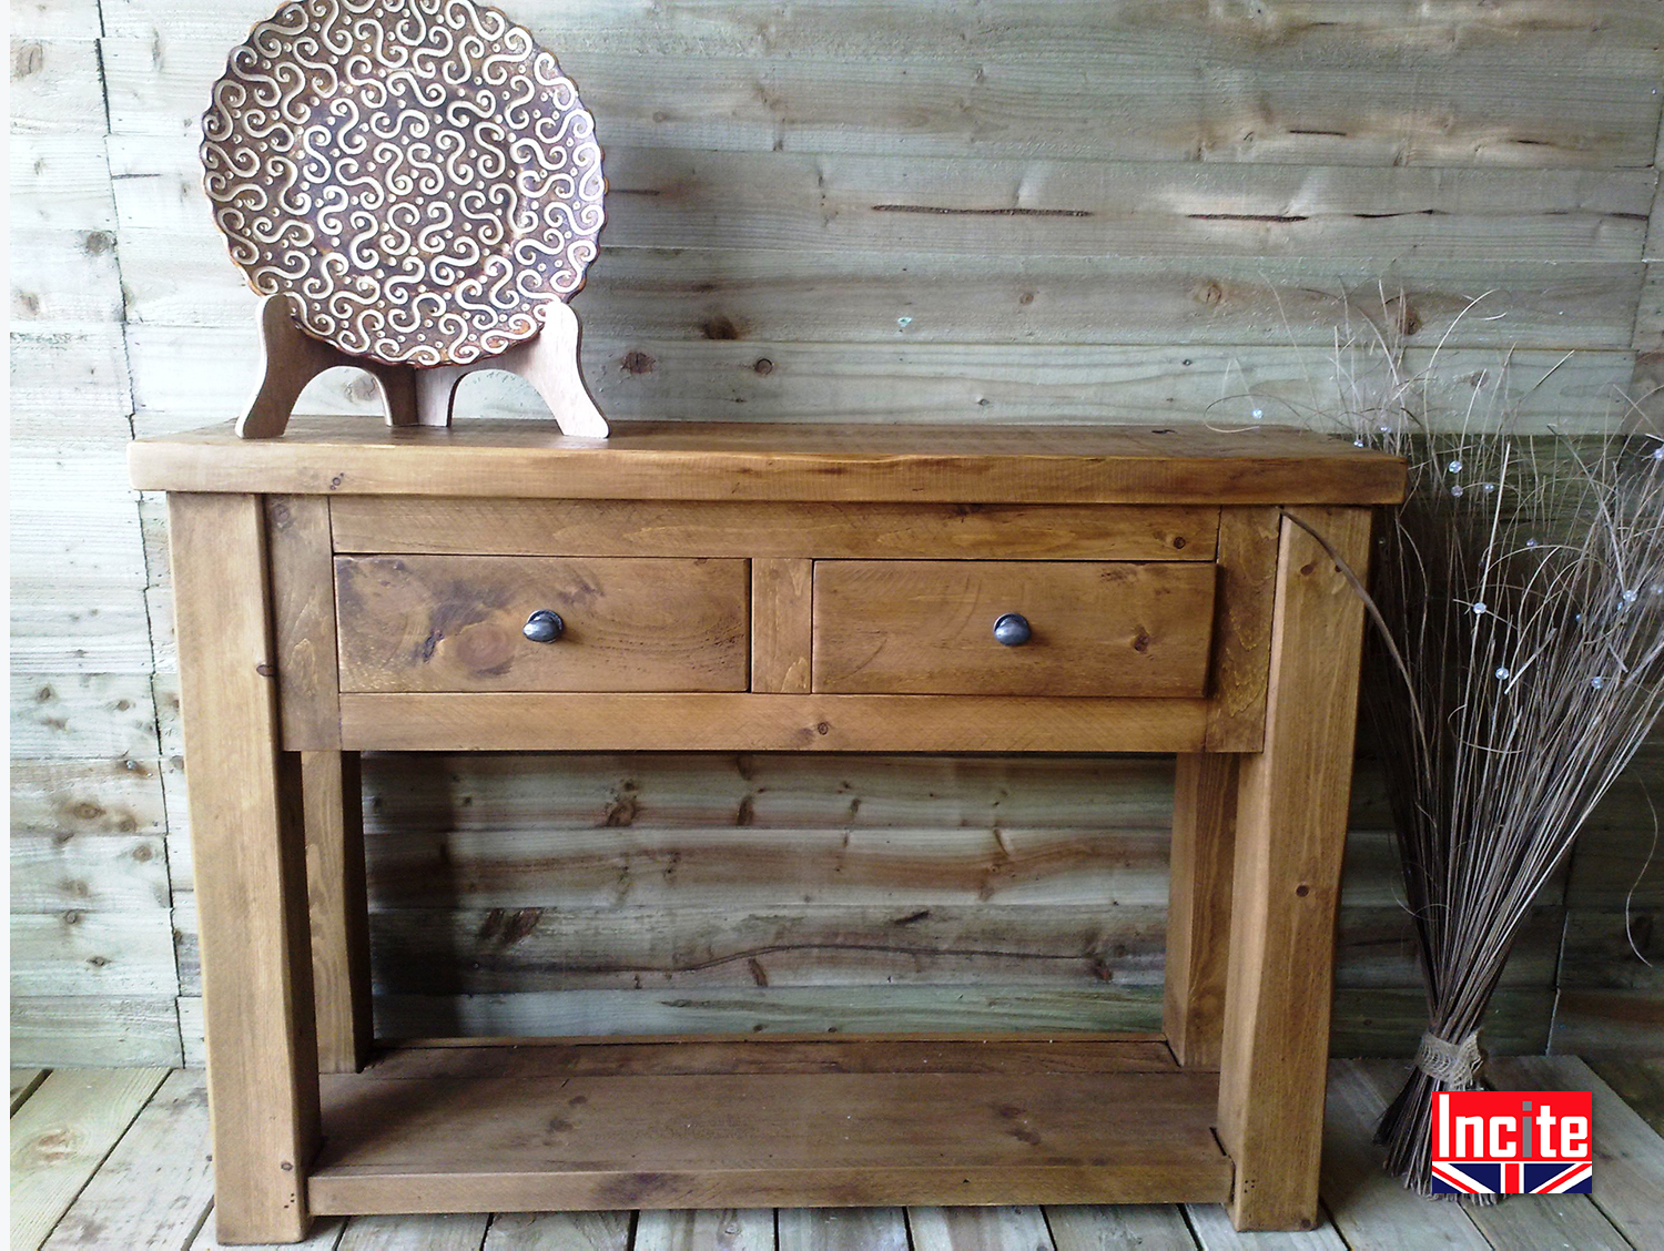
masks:
<path id="1" fill-rule="evenodd" d="M 351 750 L 1196 752 L 1200 699 L 1005 695 L 343 695 Z"/>

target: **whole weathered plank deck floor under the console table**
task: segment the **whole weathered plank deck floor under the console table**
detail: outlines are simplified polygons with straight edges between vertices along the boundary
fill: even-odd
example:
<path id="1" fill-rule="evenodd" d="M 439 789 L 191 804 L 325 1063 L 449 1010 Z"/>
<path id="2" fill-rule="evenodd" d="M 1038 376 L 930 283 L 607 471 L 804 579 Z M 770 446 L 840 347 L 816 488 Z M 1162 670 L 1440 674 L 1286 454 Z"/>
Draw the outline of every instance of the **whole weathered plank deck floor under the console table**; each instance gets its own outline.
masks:
<path id="1" fill-rule="evenodd" d="M 1401 1061 L 1336 1061 L 1323 1168 L 1326 1223 L 1238 1234 L 1196 1208 L 830 1208 L 780 1211 L 356 1216 L 313 1251 L 1659 1251 L 1664 1060 L 1508 1060 L 1499 1083 L 1594 1090 L 1594 1194 L 1464 1211 L 1383 1176 L 1369 1131 Z M 1626 1103 L 1627 1100 L 1627 1103 Z M 191 1070 L 13 1070 L 12 1248 L 210 1251 L 208 1106 Z"/>

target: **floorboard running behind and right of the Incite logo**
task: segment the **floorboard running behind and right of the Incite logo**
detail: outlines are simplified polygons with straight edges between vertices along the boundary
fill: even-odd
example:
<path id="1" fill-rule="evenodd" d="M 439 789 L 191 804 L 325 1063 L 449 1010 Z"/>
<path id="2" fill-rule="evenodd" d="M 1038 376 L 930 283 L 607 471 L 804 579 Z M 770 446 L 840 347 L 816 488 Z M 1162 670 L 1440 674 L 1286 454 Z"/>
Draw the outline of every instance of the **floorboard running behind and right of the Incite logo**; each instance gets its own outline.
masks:
<path id="1" fill-rule="evenodd" d="M 1594 1206 L 1637 1248 L 1664 1246 L 1664 1138 L 1576 1056 L 1498 1060 L 1501 1090 L 1594 1091 Z"/>

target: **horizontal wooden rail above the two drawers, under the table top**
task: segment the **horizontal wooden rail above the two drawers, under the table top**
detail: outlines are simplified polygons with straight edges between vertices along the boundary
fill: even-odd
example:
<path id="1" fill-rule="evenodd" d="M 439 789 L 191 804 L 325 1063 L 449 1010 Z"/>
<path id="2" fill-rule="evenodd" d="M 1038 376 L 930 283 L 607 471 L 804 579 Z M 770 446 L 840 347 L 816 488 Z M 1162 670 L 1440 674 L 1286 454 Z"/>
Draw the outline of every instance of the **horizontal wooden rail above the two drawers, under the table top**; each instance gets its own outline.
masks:
<path id="1" fill-rule="evenodd" d="M 338 552 L 1211 561 L 1218 511 L 656 499 L 329 501 Z"/>

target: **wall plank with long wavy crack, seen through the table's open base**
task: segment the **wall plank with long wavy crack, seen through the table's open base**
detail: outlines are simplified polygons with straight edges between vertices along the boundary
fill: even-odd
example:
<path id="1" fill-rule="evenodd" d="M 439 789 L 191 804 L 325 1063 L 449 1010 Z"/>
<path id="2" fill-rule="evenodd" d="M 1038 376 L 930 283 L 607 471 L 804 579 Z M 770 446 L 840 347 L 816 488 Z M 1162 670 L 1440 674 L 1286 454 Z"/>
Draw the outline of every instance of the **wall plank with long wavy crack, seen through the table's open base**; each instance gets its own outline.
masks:
<path id="1" fill-rule="evenodd" d="M 779 897 L 789 895 L 782 883 Z M 1554 985 L 1559 910 L 1524 927 L 1501 985 Z M 196 917 L 176 910 L 181 990 L 198 991 Z M 963 991 L 1160 988 L 1166 912 L 1113 898 L 1073 905 L 799 905 L 394 908 L 369 915 L 384 995 L 587 990 L 957 986 Z M 1341 988 L 1418 985 L 1393 908 L 1345 908 Z"/>

